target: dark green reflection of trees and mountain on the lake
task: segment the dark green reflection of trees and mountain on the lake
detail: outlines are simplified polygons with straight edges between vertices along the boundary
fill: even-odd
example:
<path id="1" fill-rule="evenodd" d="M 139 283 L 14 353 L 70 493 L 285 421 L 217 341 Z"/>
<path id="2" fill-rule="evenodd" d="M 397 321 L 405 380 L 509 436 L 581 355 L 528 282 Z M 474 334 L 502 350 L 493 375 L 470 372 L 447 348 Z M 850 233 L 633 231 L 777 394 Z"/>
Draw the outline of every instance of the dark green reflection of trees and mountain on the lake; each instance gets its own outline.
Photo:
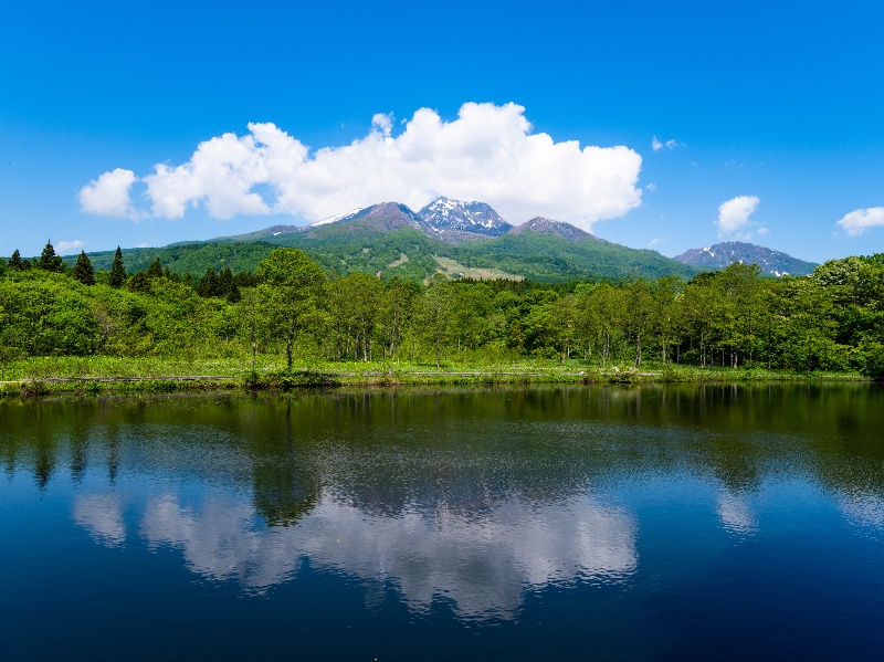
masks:
<path id="1" fill-rule="evenodd" d="M 884 390 L 866 385 L 654 385 L 307 392 L 0 403 L 0 453 L 50 484 L 59 466 L 171 472 L 250 487 L 293 525 L 324 486 L 368 513 L 484 513 L 636 472 L 686 470 L 733 494 L 803 472 L 884 495 Z"/>

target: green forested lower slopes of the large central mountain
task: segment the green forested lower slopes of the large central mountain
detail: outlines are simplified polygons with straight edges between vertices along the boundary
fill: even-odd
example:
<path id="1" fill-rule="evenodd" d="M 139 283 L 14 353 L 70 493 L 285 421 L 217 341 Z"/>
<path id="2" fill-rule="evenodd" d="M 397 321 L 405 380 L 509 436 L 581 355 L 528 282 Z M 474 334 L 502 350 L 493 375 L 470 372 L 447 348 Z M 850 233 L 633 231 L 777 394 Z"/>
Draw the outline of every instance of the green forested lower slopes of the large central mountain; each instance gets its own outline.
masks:
<path id="1" fill-rule="evenodd" d="M 202 275 L 208 267 L 230 267 L 234 273 L 254 271 L 274 246 L 304 250 L 324 270 L 343 275 L 370 273 L 382 279 L 420 281 L 436 271 L 457 276 L 470 267 L 498 275 L 545 282 L 566 280 L 618 281 L 625 277 L 676 275 L 691 277 L 698 270 L 680 264 L 654 251 L 639 251 L 592 238 L 569 241 L 526 230 L 496 239 L 450 244 L 427 237 L 412 227 L 377 228 L 354 221 L 330 224 L 309 232 L 290 232 L 261 242 L 177 244 L 161 249 L 129 249 L 123 255 L 129 272 L 144 271 L 156 258 L 172 273 Z M 112 251 L 92 253 L 97 270 L 108 270 Z M 443 269 L 438 258 L 454 261 Z M 73 264 L 74 259 L 67 259 Z M 459 271 L 459 266 L 463 269 Z M 466 273 L 469 275 L 469 273 Z"/>

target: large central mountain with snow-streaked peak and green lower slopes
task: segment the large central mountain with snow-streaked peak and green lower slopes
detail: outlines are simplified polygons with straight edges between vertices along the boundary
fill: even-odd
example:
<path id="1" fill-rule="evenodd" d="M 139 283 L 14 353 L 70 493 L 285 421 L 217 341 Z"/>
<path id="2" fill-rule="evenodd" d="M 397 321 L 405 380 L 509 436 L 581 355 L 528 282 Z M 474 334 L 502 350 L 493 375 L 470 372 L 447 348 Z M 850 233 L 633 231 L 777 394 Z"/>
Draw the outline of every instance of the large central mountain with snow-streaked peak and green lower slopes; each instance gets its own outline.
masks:
<path id="1" fill-rule="evenodd" d="M 275 246 L 302 249 L 328 273 L 370 273 L 385 280 L 421 281 L 442 272 L 451 277 L 537 281 L 615 281 L 676 275 L 699 270 L 635 250 L 544 218 L 513 228 L 484 202 L 439 198 L 414 212 L 382 202 L 309 225 L 273 225 L 256 232 L 165 248 L 124 250 L 129 273 L 155 259 L 178 274 L 202 275 L 207 267 L 254 271 Z M 113 251 L 91 253 L 107 270 Z M 73 264 L 75 256 L 66 258 Z"/>

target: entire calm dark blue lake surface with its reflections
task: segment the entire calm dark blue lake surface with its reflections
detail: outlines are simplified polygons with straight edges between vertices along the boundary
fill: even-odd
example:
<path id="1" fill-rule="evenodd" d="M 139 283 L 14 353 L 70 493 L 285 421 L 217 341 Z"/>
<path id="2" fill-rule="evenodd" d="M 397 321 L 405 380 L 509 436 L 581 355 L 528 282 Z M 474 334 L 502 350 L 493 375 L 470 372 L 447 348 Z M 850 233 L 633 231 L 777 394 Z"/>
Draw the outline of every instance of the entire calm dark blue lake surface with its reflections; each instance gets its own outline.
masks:
<path id="1" fill-rule="evenodd" d="M 884 654 L 884 389 L 0 402 L 0 658 Z"/>

